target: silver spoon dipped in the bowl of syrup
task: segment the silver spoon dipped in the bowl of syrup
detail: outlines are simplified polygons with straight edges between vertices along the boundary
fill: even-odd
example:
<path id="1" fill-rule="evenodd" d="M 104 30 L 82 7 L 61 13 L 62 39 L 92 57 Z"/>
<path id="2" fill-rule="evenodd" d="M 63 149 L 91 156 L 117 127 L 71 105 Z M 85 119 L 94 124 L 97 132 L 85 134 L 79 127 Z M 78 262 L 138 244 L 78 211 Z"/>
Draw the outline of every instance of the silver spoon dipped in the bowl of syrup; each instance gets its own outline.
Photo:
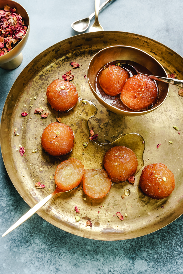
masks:
<path id="1" fill-rule="evenodd" d="M 136 68 L 134 68 L 132 65 L 129 65 L 129 64 L 121 64 L 120 67 L 126 68 L 127 70 L 129 69 L 129 70 L 133 71 L 134 74 L 146 75 L 146 76 L 148 76 L 149 78 L 151 78 L 153 80 L 157 80 L 157 81 L 165 82 L 165 83 L 172 84 L 172 85 L 178 85 L 179 87 L 183 87 L 183 80 L 178 80 L 178 79 L 173 79 L 173 78 L 169 78 L 169 77 L 161 77 L 161 76 L 154 76 L 154 75 L 148 75 L 148 74 L 145 74 L 145 73 L 141 73 Z"/>

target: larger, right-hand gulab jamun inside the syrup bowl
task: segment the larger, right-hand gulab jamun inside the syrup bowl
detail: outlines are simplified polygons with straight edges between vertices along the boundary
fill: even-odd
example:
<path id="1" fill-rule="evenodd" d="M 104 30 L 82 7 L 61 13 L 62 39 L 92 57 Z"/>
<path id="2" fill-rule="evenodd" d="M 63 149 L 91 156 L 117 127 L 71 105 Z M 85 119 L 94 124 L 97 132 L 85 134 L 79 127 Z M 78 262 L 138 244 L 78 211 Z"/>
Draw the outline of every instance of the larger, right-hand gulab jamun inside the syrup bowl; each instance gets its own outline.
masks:
<path id="1" fill-rule="evenodd" d="M 126 80 L 120 99 L 129 109 L 145 110 L 157 99 L 156 84 L 148 76 L 137 74 Z"/>

